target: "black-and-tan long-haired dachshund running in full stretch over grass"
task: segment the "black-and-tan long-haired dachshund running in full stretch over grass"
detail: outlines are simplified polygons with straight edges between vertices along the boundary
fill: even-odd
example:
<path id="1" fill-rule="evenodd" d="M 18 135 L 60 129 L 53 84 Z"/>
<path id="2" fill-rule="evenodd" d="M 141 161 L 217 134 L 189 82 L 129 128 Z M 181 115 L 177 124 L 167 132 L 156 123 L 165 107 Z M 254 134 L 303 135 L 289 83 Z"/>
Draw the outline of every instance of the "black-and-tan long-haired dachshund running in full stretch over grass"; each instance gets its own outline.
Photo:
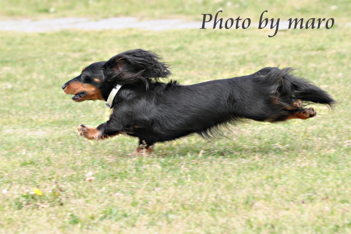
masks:
<path id="1" fill-rule="evenodd" d="M 327 92 L 291 74 L 292 69 L 263 68 L 242 77 L 194 85 L 160 82 L 171 75 L 168 66 L 151 51 L 135 49 L 84 68 L 62 86 L 75 102 L 104 100 L 112 108 L 110 119 L 96 128 L 79 125 L 88 139 L 121 133 L 139 138 L 140 152 L 156 142 L 192 133 L 204 137 L 241 119 L 279 122 L 316 115 L 306 104 L 331 106 Z M 143 146 L 141 146 L 143 145 Z"/>

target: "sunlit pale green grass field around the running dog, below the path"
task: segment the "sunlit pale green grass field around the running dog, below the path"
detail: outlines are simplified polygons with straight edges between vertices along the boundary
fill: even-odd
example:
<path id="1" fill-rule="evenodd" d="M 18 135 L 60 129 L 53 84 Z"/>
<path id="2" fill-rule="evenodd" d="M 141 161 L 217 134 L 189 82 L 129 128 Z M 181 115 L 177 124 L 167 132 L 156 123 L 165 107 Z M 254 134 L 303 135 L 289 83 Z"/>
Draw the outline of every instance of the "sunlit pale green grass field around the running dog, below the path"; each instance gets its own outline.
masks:
<path id="1" fill-rule="evenodd" d="M 351 233 L 351 27 L 268 33 L 0 32 L 0 233 Z M 61 85 L 133 48 L 166 58 L 182 84 L 295 67 L 338 103 L 314 105 L 305 121 L 239 124 L 227 138 L 128 156 L 133 138 L 77 135 L 110 111 L 74 103 Z"/>

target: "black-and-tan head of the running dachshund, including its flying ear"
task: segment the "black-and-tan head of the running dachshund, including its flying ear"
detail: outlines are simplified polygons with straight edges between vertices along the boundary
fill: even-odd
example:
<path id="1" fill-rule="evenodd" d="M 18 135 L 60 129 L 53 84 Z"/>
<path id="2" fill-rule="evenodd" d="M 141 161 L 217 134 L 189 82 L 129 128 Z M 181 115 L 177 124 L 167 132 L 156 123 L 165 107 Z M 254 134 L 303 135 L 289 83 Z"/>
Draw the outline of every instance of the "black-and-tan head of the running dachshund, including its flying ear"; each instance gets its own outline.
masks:
<path id="1" fill-rule="evenodd" d="M 107 100 L 116 85 L 142 82 L 145 87 L 171 73 L 161 58 L 151 51 L 135 49 L 113 56 L 84 68 L 82 73 L 62 86 L 66 94 L 74 95 L 75 102 Z"/>

